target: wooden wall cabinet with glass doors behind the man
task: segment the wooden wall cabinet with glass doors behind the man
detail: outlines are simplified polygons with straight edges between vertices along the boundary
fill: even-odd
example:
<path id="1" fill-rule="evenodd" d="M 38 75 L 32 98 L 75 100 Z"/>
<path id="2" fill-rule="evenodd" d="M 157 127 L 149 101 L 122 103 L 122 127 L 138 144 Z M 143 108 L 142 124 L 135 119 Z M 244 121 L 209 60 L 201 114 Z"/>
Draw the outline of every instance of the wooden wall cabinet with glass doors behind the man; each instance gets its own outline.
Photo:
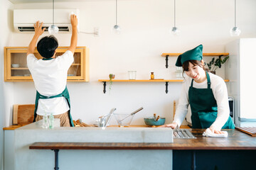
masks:
<path id="1" fill-rule="evenodd" d="M 4 81 L 33 81 L 26 64 L 28 47 L 4 47 Z M 63 55 L 68 47 L 58 47 L 56 57 Z M 42 59 L 38 51 L 34 55 Z M 76 47 L 74 62 L 68 69 L 68 81 L 89 81 L 89 49 Z"/>

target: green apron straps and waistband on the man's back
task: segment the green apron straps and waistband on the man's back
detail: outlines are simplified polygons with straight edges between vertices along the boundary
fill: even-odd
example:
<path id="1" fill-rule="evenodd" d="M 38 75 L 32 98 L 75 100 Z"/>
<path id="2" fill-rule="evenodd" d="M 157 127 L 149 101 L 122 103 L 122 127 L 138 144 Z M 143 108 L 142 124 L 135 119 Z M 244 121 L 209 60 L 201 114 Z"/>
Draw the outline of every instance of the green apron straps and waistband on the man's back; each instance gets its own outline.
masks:
<path id="1" fill-rule="evenodd" d="M 52 60 L 52 59 L 53 58 L 43 58 L 43 60 Z M 39 98 L 40 99 L 48 99 L 48 98 L 58 98 L 58 97 L 65 97 L 65 99 L 68 102 L 68 106 L 70 107 L 70 96 L 68 94 L 67 86 L 65 87 L 65 90 L 61 94 L 58 94 L 58 95 L 55 95 L 55 96 L 43 96 L 43 95 L 39 94 L 38 91 L 36 91 L 36 104 L 35 104 L 35 112 L 34 112 L 33 122 L 36 122 L 36 115 L 37 115 L 36 111 L 37 111 L 37 108 L 38 108 Z M 73 119 L 72 119 L 70 110 L 68 111 L 68 115 L 69 115 L 69 118 L 70 118 L 70 126 L 74 127 L 74 123 L 73 123 Z"/>

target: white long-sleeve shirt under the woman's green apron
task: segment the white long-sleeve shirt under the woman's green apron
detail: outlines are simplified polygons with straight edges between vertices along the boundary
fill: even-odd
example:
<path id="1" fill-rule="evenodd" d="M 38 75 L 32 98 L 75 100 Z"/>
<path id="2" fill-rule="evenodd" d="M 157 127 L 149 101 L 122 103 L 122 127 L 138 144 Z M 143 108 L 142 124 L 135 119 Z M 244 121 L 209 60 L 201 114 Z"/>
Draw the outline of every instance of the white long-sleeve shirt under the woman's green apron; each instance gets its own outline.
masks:
<path id="1" fill-rule="evenodd" d="M 213 96 L 218 106 L 217 118 L 215 122 L 210 125 L 210 127 L 214 127 L 216 130 L 220 130 L 230 115 L 230 108 L 228 105 L 228 90 L 225 81 L 221 77 L 211 73 L 208 74 L 210 76 L 211 83 L 210 89 L 213 90 Z M 188 89 L 191 86 L 191 81 L 191 77 L 186 77 L 182 84 L 181 96 L 178 100 L 178 106 L 174 116 L 174 123 L 178 123 L 178 126 L 181 125 L 183 119 L 188 113 Z M 207 79 L 202 83 L 196 83 L 196 81 L 193 81 L 193 87 L 196 89 L 207 89 Z"/>

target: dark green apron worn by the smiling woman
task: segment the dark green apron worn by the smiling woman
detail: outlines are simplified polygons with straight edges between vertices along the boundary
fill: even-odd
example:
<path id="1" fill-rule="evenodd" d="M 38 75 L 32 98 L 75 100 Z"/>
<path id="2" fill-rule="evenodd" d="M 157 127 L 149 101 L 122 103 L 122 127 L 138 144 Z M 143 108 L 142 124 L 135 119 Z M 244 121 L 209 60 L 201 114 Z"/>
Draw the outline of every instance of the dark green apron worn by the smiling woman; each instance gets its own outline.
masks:
<path id="1" fill-rule="evenodd" d="M 210 125 L 216 120 L 218 113 L 217 103 L 213 96 L 213 90 L 210 89 L 210 77 L 207 72 L 206 77 L 208 84 L 207 89 L 193 88 L 192 79 L 191 86 L 188 90 L 188 99 L 192 113 L 192 128 L 196 129 L 210 128 Z M 235 125 L 230 116 L 222 129 L 235 129 Z"/>

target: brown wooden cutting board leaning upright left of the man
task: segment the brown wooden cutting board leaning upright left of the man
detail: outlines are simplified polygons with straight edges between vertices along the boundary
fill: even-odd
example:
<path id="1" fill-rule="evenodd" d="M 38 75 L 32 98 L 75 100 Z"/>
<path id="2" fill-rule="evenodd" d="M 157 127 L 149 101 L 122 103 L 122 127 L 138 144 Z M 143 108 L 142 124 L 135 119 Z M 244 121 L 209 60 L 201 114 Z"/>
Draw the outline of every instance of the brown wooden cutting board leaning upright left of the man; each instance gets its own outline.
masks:
<path id="1" fill-rule="evenodd" d="M 33 123 L 34 111 L 34 104 L 14 105 L 13 124 L 28 125 L 29 123 Z"/>

